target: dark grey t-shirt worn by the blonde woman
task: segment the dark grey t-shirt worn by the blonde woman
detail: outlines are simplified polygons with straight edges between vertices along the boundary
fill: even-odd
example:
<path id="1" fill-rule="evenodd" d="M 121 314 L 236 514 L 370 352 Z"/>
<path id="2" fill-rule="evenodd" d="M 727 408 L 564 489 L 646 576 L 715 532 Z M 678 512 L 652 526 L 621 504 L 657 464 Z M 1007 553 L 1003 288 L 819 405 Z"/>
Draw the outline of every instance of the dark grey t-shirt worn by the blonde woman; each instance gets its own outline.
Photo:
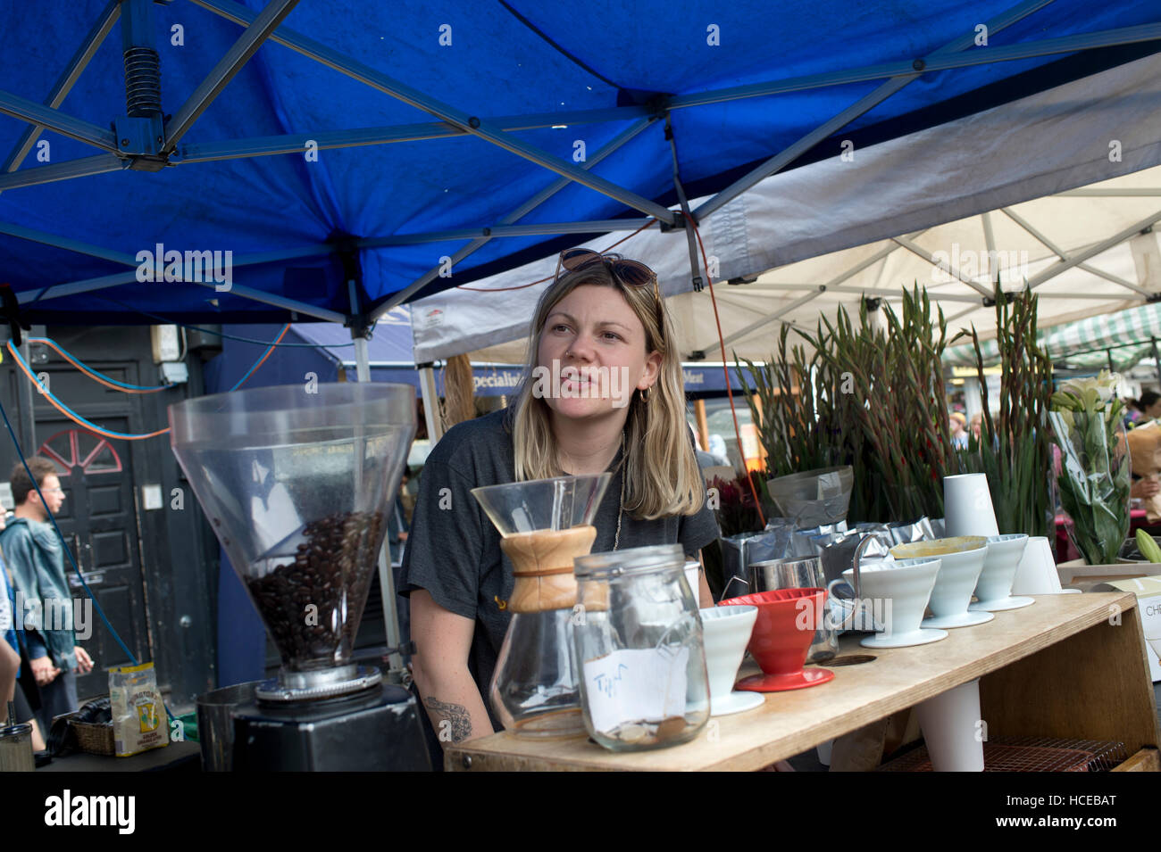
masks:
<path id="1" fill-rule="evenodd" d="M 468 668 L 490 715 L 488 689 L 512 617 L 499 607 L 512 592 L 512 563 L 500 551 L 500 534 L 471 489 L 515 481 L 512 435 L 505 427 L 509 410 L 453 427 L 427 457 L 399 583 L 401 595 L 426 589 L 445 610 L 476 622 Z M 610 469 L 618 473 L 597 509 L 593 553 L 613 549 L 621 497 L 619 461 L 619 457 L 613 459 Z M 716 538 L 717 520 L 705 504 L 697 515 L 656 520 L 640 520 L 625 512 L 618 549 L 680 544 L 694 555 Z M 492 726 L 499 730 L 495 716 Z"/>

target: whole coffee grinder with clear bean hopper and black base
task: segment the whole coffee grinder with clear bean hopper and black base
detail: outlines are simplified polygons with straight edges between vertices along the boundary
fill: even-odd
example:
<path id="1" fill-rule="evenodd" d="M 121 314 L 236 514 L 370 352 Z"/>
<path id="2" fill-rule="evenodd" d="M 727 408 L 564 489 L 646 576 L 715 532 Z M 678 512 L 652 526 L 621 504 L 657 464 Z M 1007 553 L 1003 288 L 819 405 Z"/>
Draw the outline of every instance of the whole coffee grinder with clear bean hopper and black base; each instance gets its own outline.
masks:
<path id="1" fill-rule="evenodd" d="M 170 440 L 282 656 L 232 709 L 231 765 L 430 770 L 414 698 L 351 662 L 414 389 L 264 387 L 170 407 Z"/>

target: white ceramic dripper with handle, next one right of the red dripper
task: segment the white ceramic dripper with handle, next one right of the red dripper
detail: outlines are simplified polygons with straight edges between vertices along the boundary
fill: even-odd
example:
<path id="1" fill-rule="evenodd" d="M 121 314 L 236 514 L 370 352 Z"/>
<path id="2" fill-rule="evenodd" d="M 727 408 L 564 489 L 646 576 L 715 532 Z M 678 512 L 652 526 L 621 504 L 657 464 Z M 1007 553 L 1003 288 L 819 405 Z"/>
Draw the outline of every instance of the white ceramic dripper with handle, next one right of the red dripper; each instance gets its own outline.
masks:
<path id="1" fill-rule="evenodd" d="M 947 631 L 920 626 L 940 565 L 938 558 L 923 558 L 864 566 L 859 571 L 861 597 L 873 602 L 875 621 L 881 621 L 886 631 L 867 636 L 859 645 L 864 648 L 907 648 L 946 639 Z M 853 585 L 854 569 L 843 571 L 843 580 Z"/>

